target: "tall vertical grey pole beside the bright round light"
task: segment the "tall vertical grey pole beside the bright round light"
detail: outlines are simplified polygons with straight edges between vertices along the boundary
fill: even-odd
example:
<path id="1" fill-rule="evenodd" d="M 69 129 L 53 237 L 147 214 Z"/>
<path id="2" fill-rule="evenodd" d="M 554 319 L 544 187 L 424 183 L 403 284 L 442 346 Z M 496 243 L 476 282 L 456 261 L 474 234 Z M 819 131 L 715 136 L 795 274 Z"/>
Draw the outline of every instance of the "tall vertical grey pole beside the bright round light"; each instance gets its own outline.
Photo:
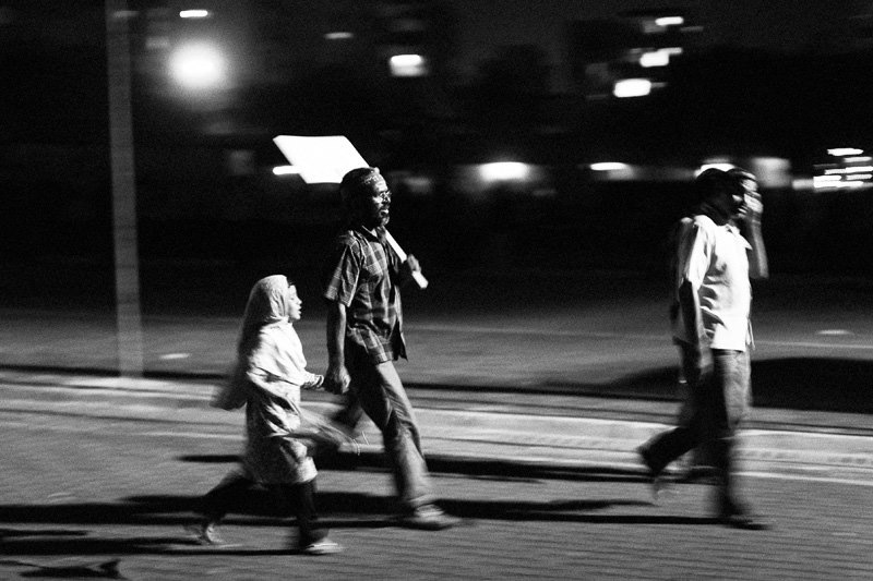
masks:
<path id="1" fill-rule="evenodd" d="M 140 263 L 136 245 L 136 182 L 131 121 L 129 15 L 127 0 L 106 0 L 118 372 L 121 376 L 141 377 L 143 374 L 143 336 L 140 316 Z"/>

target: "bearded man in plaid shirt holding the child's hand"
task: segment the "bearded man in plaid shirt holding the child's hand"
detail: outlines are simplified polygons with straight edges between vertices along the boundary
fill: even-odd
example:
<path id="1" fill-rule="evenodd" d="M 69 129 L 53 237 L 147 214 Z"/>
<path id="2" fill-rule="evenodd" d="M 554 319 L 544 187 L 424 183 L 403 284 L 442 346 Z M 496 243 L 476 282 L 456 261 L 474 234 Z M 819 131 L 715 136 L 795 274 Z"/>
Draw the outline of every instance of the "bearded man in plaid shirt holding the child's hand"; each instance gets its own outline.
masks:
<path id="1" fill-rule="evenodd" d="M 327 263 L 327 372 L 325 383 L 346 395 L 337 421 L 354 428 L 361 411 L 383 436 L 403 512 L 400 522 L 439 530 L 458 519 L 433 504 L 428 467 L 412 407 L 394 361 L 406 358 L 399 283 L 419 270 L 408 256 L 399 263 L 384 241 L 391 191 L 376 168 L 346 173 L 339 184 L 348 228 Z"/>

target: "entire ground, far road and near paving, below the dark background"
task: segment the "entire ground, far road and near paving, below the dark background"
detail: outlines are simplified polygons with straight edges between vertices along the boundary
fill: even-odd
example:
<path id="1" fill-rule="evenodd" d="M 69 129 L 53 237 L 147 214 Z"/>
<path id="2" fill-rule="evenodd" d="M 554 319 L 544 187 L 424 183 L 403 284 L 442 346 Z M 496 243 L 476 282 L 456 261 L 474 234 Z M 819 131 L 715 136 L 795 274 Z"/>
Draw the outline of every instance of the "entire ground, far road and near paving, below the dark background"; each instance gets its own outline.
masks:
<path id="1" fill-rule="evenodd" d="M 570 281 L 584 301 L 535 296 L 521 308 L 524 289 L 507 298 L 480 286 L 477 301 L 465 299 L 463 281 L 434 280 L 451 301 L 409 301 L 418 314 L 399 371 L 440 504 L 465 525 L 396 526 L 380 436 L 363 424 L 360 455 L 344 448 L 319 460 L 321 513 L 346 546 L 322 558 L 287 550 L 287 521 L 256 491 L 223 528 L 235 546 L 199 547 L 182 530 L 242 444 L 242 414 L 208 407 L 232 360 L 236 316 L 181 301 L 174 312 L 169 300 L 148 311 L 146 376 L 131 378 L 111 373 L 111 313 L 3 308 L 0 578 L 873 576 L 873 416 L 838 385 L 858 390 L 866 380 L 866 303 L 804 310 L 792 281 L 780 289 L 797 292 L 764 293 L 755 359 L 793 375 L 768 384 L 773 370 L 755 370 L 765 404 L 741 436 L 739 482 L 773 526 L 738 531 L 715 522 L 710 487 L 685 482 L 684 464 L 655 500 L 636 459 L 635 447 L 672 422 L 680 397 L 675 354 L 650 315 L 660 298 L 641 291 L 645 281 Z M 475 308 L 482 295 L 494 300 Z M 298 331 L 318 372 L 321 312 L 310 302 L 303 316 Z M 794 389 L 804 375 L 816 380 Z M 336 404 L 323 392 L 304 400 L 315 413 Z"/>

